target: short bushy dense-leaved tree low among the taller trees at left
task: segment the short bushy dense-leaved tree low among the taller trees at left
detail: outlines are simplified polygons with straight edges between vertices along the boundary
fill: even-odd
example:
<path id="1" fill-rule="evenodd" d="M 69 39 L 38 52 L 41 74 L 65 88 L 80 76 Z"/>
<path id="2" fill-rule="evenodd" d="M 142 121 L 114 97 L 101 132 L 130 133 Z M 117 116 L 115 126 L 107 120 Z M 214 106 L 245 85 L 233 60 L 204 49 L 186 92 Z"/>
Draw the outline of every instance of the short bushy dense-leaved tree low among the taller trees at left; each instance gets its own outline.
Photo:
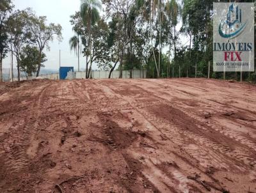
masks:
<path id="1" fill-rule="evenodd" d="M 47 61 L 44 52 L 40 52 L 37 47 L 26 45 L 20 52 L 20 70 L 26 73 L 26 77 L 32 77 L 33 73 L 38 71 L 38 60 L 40 59 L 40 67 L 44 67 Z"/>

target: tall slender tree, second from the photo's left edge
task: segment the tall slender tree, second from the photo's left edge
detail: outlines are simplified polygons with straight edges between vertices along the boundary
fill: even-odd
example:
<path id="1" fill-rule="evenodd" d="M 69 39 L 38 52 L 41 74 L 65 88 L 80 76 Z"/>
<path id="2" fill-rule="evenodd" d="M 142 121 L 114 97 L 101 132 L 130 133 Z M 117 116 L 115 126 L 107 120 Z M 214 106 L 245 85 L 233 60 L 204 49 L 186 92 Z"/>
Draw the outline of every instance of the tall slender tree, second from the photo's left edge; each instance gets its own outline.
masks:
<path id="1" fill-rule="evenodd" d="M 7 26 L 8 33 L 10 35 L 10 44 L 14 56 L 17 59 L 17 71 L 18 71 L 18 80 L 20 81 L 20 51 L 28 40 L 28 33 L 26 31 L 26 26 L 28 24 L 28 17 L 31 14 L 30 9 L 26 10 L 17 10 L 12 15 L 10 15 Z"/>

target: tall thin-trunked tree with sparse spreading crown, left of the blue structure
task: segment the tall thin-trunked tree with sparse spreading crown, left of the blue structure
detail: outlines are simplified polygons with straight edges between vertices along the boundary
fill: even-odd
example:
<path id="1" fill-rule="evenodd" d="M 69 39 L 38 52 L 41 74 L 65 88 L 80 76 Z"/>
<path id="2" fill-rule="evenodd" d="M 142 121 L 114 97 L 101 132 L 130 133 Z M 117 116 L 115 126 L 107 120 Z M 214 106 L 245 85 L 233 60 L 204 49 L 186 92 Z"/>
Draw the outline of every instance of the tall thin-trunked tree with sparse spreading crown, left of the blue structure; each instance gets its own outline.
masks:
<path id="1" fill-rule="evenodd" d="M 54 36 L 56 36 L 57 40 L 61 42 L 62 35 L 61 30 L 62 27 L 60 24 L 46 24 L 47 19 L 45 16 L 37 17 L 35 14 L 28 15 L 28 34 L 29 40 L 36 43 L 39 49 L 39 58 L 38 58 L 38 68 L 36 72 L 36 77 L 38 77 L 40 73 L 40 62 L 42 57 L 42 52 L 47 48 L 50 49 L 49 42 L 54 40 Z"/>

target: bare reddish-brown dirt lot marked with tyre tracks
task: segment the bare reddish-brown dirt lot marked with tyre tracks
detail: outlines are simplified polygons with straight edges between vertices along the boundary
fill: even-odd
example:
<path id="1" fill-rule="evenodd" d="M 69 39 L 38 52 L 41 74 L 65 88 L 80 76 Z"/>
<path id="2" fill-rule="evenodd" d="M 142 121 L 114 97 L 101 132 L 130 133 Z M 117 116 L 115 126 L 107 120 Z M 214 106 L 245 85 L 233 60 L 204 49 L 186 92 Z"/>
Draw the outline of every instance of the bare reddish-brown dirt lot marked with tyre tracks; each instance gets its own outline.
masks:
<path id="1" fill-rule="evenodd" d="M 256 87 L 1 84 L 0 192 L 256 192 Z"/>

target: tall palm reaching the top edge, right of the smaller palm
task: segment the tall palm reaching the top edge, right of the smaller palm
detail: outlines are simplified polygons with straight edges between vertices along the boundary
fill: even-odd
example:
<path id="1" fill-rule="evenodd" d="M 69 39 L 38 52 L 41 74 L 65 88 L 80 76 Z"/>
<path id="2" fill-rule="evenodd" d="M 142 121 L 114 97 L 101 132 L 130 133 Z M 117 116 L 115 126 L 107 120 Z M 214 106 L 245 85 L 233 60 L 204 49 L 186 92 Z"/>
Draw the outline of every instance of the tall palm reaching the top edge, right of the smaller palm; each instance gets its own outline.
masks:
<path id="1" fill-rule="evenodd" d="M 84 26 L 89 31 L 89 51 L 90 51 L 90 74 L 92 78 L 92 37 L 91 29 L 92 26 L 100 19 L 99 10 L 101 3 L 99 0 L 81 0 L 81 17 L 83 19 Z M 87 74 L 86 74 L 87 77 Z"/>

